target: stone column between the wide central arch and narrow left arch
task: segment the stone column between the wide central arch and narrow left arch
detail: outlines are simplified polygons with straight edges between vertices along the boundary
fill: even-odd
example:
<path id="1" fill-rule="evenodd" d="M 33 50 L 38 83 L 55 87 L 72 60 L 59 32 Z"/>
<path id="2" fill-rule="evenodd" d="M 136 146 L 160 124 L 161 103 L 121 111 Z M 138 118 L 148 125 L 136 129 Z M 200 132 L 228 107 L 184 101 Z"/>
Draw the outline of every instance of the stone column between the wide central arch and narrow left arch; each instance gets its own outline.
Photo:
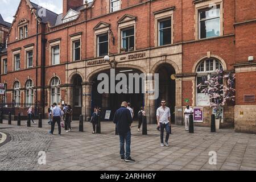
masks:
<path id="1" fill-rule="evenodd" d="M 92 82 L 82 83 L 82 115 L 85 121 L 92 114 L 92 85 Z"/>

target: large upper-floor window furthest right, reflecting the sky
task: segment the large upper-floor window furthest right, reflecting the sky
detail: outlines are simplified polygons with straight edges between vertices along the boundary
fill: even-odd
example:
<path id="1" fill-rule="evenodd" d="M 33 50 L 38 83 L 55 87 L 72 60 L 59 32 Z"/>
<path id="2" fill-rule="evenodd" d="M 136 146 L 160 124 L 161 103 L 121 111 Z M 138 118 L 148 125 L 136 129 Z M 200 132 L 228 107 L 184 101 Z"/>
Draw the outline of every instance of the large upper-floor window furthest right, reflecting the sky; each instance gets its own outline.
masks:
<path id="1" fill-rule="evenodd" d="M 220 35 L 220 5 L 199 10 L 199 38 Z"/>

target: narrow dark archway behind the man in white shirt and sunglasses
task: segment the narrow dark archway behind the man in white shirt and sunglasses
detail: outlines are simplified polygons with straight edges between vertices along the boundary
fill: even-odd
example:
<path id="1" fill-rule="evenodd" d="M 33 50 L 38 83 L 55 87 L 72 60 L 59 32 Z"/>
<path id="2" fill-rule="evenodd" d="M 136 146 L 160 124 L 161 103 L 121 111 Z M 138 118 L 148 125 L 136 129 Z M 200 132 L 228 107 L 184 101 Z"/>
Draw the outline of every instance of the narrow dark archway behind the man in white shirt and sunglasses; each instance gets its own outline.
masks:
<path id="1" fill-rule="evenodd" d="M 159 73 L 159 98 L 155 101 L 155 109 L 160 106 L 161 100 L 166 100 L 171 109 L 171 122 L 175 123 L 176 83 L 175 69 L 170 64 L 160 64 L 155 73 Z"/>

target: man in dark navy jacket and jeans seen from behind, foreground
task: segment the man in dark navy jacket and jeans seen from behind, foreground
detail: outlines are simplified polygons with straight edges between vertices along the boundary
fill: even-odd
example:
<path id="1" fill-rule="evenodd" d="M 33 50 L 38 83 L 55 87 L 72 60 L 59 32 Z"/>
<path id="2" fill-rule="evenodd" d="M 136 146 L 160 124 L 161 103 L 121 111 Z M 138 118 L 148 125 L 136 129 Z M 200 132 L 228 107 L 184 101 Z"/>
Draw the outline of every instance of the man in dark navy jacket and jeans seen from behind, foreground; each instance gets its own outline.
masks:
<path id="1" fill-rule="evenodd" d="M 127 102 L 122 102 L 121 108 L 115 112 L 114 123 L 117 125 L 117 130 L 120 138 L 120 155 L 121 161 L 135 162 L 131 159 L 131 118 L 130 110 L 127 109 Z M 125 152 L 126 142 L 126 152 Z"/>

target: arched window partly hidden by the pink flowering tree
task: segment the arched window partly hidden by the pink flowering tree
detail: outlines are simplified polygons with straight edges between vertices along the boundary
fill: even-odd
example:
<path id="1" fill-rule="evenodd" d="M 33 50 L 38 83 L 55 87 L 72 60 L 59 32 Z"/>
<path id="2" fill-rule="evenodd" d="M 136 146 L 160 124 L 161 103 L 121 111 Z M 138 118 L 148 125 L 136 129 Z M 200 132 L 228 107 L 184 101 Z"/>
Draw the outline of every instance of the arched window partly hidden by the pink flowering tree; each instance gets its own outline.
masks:
<path id="1" fill-rule="evenodd" d="M 210 98 L 207 94 L 201 93 L 201 91 L 205 88 L 205 81 L 208 80 L 210 74 L 214 74 L 216 70 L 223 69 L 223 65 L 218 59 L 209 58 L 201 61 L 201 63 L 197 67 L 197 85 L 201 84 L 201 88 L 197 88 L 196 93 L 196 105 L 197 106 L 209 106 Z M 223 80 L 222 80 L 223 81 Z"/>

